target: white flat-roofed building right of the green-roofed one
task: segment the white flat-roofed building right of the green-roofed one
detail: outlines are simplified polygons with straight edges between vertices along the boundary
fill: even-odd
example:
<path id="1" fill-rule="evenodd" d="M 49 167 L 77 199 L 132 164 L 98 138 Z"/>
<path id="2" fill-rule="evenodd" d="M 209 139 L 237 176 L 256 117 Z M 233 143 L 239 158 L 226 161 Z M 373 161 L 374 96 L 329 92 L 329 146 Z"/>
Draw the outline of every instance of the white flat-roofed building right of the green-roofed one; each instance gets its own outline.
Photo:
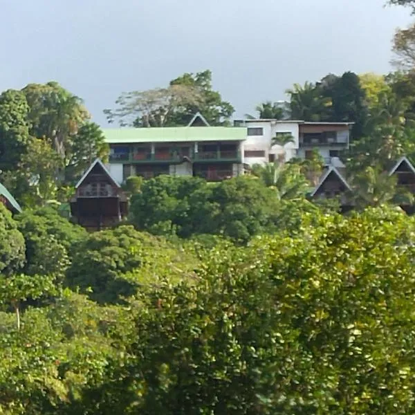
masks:
<path id="1" fill-rule="evenodd" d="M 351 122 L 304 122 L 291 120 L 235 120 L 246 127 L 243 145 L 247 165 L 309 158 L 317 149 L 326 165 L 349 148 Z M 291 136 L 291 140 L 288 139 Z"/>

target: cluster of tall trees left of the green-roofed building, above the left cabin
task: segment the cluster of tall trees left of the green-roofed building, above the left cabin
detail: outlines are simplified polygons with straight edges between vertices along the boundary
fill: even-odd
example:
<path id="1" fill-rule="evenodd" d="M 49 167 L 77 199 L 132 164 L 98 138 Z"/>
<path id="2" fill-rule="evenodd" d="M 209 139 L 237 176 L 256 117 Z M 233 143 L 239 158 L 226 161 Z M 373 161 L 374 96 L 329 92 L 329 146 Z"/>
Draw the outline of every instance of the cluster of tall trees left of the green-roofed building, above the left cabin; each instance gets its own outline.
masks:
<path id="1" fill-rule="evenodd" d="M 0 94 L 0 182 L 23 205 L 66 202 L 60 190 L 108 153 L 82 100 L 57 82 Z"/>

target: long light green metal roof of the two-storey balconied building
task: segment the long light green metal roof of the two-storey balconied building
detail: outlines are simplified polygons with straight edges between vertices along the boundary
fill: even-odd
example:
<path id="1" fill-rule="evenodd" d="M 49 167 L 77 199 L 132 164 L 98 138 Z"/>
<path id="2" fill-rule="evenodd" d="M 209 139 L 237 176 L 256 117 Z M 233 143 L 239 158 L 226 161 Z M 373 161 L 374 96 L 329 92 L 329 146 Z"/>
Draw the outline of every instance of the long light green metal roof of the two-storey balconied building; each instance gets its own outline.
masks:
<path id="1" fill-rule="evenodd" d="M 102 130 L 109 144 L 134 142 L 243 141 L 246 127 L 152 127 L 107 128 Z"/>

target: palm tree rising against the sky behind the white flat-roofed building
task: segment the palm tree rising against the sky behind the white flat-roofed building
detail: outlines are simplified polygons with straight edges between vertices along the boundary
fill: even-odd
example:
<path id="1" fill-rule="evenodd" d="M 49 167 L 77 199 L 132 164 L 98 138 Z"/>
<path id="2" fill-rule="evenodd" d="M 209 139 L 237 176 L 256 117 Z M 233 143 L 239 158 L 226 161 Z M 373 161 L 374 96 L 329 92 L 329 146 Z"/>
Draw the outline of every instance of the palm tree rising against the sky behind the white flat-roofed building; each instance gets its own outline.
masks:
<path id="1" fill-rule="evenodd" d="M 286 93 L 291 98 L 292 120 L 320 121 L 332 104 L 331 98 L 322 96 L 321 89 L 312 82 L 306 82 L 304 86 L 294 84 Z"/>

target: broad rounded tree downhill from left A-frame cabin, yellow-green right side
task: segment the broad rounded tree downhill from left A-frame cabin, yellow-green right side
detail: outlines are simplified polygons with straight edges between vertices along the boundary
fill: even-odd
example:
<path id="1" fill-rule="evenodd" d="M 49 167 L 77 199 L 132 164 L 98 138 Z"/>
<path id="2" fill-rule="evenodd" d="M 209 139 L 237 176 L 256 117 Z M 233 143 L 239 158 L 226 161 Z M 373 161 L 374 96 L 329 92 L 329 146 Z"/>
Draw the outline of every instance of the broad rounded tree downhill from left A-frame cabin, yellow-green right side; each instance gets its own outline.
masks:
<path id="1" fill-rule="evenodd" d="M 100 304 L 117 304 L 164 276 L 186 278 L 193 266 L 192 258 L 164 239 L 123 225 L 91 234 L 73 248 L 66 284 Z"/>

